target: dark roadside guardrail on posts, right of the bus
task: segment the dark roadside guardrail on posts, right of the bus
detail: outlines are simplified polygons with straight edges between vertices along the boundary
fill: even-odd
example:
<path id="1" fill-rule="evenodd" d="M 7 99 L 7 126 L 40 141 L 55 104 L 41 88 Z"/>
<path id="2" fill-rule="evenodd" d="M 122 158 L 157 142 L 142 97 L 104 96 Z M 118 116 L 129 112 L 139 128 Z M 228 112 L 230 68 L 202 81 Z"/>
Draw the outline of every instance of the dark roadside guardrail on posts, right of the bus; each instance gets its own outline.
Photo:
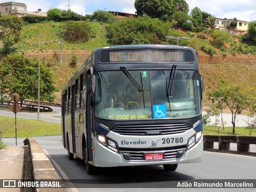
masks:
<path id="1" fill-rule="evenodd" d="M 230 143 L 237 144 L 238 152 L 250 152 L 250 144 L 256 144 L 256 136 L 204 135 L 204 150 L 212 149 L 218 142 L 219 150 L 230 150 Z"/>

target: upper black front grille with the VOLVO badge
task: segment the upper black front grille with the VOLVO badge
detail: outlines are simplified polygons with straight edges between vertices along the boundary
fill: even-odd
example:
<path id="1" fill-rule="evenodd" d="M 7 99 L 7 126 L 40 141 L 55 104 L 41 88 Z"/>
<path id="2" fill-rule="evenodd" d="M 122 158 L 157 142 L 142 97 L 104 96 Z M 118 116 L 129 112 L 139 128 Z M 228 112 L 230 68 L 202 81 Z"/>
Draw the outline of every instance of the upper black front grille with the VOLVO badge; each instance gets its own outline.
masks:
<path id="1" fill-rule="evenodd" d="M 190 130 L 188 124 L 158 124 L 158 125 L 118 125 L 114 130 L 120 135 L 148 136 L 148 135 L 169 135 L 184 133 Z"/>

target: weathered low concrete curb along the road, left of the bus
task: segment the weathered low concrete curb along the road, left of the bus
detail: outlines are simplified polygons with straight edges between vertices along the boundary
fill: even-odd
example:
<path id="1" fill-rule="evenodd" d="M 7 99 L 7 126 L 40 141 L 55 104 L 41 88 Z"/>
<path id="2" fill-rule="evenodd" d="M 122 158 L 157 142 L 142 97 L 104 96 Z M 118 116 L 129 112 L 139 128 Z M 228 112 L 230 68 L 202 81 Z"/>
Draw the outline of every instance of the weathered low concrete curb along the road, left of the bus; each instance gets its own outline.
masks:
<path id="1" fill-rule="evenodd" d="M 26 138 L 23 142 L 24 145 L 28 145 L 29 148 L 31 178 L 34 180 L 61 181 L 60 176 L 38 142 L 36 142 L 34 138 Z M 63 185 L 62 182 L 60 182 L 60 184 Z M 50 190 L 51 192 L 68 192 L 66 188 L 50 188 Z M 35 188 L 35 191 L 48 192 L 49 188 Z"/>

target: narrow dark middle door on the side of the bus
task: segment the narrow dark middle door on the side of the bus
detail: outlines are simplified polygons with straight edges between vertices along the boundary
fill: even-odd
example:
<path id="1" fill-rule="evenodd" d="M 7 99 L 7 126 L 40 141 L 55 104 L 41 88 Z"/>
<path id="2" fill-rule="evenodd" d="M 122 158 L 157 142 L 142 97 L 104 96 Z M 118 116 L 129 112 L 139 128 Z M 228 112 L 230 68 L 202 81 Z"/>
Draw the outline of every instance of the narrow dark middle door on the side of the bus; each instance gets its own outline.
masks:
<path id="1" fill-rule="evenodd" d="M 72 101 L 71 101 L 71 126 L 72 126 L 72 149 L 73 153 L 76 153 L 76 132 L 75 132 L 75 85 L 72 85 Z"/>

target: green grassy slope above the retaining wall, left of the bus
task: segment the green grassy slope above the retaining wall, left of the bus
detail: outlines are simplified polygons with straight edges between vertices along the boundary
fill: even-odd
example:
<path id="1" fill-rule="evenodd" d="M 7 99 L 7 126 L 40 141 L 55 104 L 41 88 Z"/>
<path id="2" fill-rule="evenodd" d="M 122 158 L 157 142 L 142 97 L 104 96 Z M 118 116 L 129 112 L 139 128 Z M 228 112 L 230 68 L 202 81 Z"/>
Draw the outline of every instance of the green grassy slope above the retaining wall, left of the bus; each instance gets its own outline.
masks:
<path id="1" fill-rule="evenodd" d="M 62 53 L 91 52 L 92 50 L 109 46 L 106 38 L 106 26 L 108 24 L 99 24 L 90 22 L 92 32 L 87 42 L 71 42 L 62 37 Z M 60 31 L 64 26 L 64 22 L 44 22 L 36 24 L 27 24 L 21 30 L 21 41 L 13 46 L 17 53 L 24 52 L 26 54 L 38 53 L 38 41 L 46 44 L 40 45 L 40 52 L 47 53 L 48 50 L 59 54 Z"/>

